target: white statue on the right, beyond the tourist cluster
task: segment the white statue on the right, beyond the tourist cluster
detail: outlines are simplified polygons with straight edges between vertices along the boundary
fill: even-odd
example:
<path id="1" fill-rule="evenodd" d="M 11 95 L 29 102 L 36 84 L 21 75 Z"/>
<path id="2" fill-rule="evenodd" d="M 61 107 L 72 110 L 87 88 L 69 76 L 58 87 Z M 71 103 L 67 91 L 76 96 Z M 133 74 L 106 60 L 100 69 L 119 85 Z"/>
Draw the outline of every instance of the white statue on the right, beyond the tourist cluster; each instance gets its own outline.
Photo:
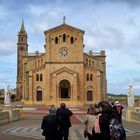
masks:
<path id="1" fill-rule="evenodd" d="M 133 86 L 129 85 L 128 87 L 128 95 L 127 95 L 127 104 L 128 106 L 133 107 L 135 102 L 134 102 L 134 92 L 133 92 Z"/>

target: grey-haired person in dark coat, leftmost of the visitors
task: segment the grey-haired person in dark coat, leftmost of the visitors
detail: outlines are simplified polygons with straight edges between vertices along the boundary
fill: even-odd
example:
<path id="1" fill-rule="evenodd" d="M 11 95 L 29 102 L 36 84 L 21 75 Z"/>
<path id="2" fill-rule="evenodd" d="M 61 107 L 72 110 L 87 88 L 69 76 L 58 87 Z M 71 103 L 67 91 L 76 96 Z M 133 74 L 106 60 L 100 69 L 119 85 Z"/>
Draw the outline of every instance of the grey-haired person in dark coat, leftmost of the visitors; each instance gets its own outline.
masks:
<path id="1" fill-rule="evenodd" d="M 51 106 L 49 114 L 43 117 L 41 129 L 43 130 L 42 135 L 45 136 L 45 140 L 58 139 L 56 108 L 54 106 Z"/>

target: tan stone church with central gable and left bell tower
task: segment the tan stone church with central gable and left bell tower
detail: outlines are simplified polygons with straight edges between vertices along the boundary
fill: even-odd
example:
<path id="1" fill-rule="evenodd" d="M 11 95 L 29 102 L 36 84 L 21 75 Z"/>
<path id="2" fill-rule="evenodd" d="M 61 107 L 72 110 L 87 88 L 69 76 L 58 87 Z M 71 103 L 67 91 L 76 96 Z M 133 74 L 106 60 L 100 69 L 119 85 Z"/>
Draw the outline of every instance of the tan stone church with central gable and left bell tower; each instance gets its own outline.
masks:
<path id="1" fill-rule="evenodd" d="M 45 52 L 28 53 L 24 24 L 17 43 L 17 94 L 25 103 L 93 104 L 106 98 L 105 51 L 84 53 L 84 31 L 63 23 L 45 34 Z"/>

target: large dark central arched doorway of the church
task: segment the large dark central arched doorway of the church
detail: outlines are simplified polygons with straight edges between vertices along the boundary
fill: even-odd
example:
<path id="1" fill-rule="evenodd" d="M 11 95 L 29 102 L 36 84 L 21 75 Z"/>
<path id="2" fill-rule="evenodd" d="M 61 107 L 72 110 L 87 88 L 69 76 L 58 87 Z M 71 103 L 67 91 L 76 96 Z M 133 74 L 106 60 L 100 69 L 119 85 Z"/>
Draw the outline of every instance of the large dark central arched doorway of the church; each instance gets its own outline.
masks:
<path id="1" fill-rule="evenodd" d="M 62 80 L 59 83 L 59 97 L 62 99 L 70 98 L 70 82 L 68 80 Z"/>

